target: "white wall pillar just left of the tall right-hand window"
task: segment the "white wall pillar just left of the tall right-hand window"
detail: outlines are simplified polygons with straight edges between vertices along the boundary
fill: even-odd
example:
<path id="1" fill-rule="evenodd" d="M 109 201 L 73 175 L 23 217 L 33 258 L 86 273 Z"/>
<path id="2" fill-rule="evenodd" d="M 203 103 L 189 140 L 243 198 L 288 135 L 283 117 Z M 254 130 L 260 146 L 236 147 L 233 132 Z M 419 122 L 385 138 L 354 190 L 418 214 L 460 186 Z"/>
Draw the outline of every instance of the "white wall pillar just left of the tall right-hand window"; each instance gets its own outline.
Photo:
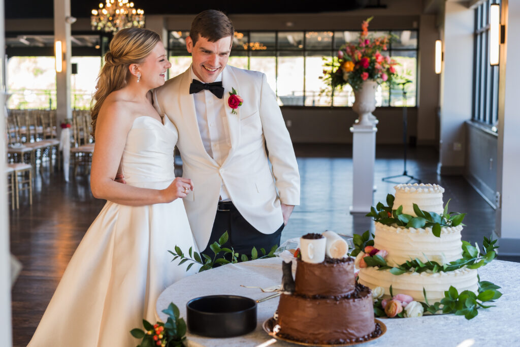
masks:
<path id="1" fill-rule="evenodd" d="M 464 122 L 471 119 L 474 10 L 447 2 L 444 16 L 444 63 L 440 80 L 440 174 L 464 171 Z"/>

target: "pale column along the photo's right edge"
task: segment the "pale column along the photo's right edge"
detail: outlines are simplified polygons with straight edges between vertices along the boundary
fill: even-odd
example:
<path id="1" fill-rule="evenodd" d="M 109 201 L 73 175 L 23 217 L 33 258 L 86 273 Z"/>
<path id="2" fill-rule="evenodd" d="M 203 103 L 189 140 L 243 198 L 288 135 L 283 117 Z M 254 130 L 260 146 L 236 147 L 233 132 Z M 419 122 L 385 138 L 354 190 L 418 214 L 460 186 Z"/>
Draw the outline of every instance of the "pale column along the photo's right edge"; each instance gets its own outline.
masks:
<path id="1" fill-rule="evenodd" d="M 498 102 L 497 208 L 500 255 L 520 256 L 518 197 L 520 184 L 520 117 L 518 117 L 518 76 L 520 76 L 520 3 L 503 0 L 501 23 L 505 24 L 505 44 L 500 49 Z M 507 61 L 507 63 L 506 63 Z"/>

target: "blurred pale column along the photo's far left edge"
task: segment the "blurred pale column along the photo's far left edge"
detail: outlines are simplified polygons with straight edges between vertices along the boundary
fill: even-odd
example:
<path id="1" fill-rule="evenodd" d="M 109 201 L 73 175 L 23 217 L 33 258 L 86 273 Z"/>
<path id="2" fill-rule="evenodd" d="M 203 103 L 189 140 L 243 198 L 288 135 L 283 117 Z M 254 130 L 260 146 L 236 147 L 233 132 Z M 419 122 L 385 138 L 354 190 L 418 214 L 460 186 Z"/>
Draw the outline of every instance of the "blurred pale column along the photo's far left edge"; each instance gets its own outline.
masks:
<path id="1" fill-rule="evenodd" d="M 0 0 L 0 58 L 5 63 L 4 0 Z M 0 78 L 2 78 L 0 76 Z M 4 82 L 4 81 L 2 81 Z M 11 268 L 9 253 L 9 214 L 7 213 L 7 187 L 5 172 L 5 121 L 4 96 L 0 95 L 0 336 L 6 346 L 12 346 L 11 330 Z M 14 188 L 14 187 L 13 187 Z"/>

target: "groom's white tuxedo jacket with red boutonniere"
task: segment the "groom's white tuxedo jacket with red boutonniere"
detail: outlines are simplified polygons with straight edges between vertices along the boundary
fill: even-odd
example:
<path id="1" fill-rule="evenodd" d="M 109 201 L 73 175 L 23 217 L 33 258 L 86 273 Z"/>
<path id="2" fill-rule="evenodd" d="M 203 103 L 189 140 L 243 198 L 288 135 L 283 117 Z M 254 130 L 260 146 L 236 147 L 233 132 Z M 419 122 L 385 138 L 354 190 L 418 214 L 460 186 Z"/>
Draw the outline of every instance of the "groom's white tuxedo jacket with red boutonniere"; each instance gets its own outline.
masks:
<path id="1" fill-rule="evenodd" d="M 155 109 L 167 115 L 179 133 L 183 177 L 194 184 L 184 205 L 199 249 L 205 249 L 210 239 L 222 184 L 246 221 L 264 234 L 274 233 L 283 223 L 280 201 L 300 204 L 298 166 L 275 93 L 261 72 L 224 68 L 224 97 L 218 102 L 225 104 L 224 124 L 229 128 L 231 149 L 219 165 L 202 143 L 193 95 L 189 94 L 190 69 L 155 89 L 153 97 Z M 232 88 L 244 100 L 237 114 L 228 105 Z"/>

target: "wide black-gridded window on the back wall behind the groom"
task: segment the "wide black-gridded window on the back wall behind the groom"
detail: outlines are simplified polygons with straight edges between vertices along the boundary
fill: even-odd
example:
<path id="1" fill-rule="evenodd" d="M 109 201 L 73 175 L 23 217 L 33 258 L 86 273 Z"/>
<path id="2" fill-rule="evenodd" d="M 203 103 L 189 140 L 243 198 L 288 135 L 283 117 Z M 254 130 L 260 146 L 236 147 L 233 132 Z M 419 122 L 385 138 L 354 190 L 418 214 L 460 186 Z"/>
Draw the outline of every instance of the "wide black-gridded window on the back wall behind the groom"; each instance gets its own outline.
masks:
<path id="1" fill-rule="evenodd" d="M 396 67 L 403 80 L 406 99 L 400 85 L 384 83 L 376 92 L 378 106 L 417 105 L 417 30 L 371 32 L 375 36 L 392 34 L 395 38 L 384 54 L 400 63 Z M 188 31 L 172 31 L 168 55 L 172 63 L 170 76 L 184 72 L 191 63 L 186 52 Z M 359 31 L 236 31 L 229 65 L 264 72 L 276 92 L 280 106 L 351 107 L 352 88 L 332 94 L 320 79 L 323 65 L 332 60 L 347 42 L 357 40 Z"/>

